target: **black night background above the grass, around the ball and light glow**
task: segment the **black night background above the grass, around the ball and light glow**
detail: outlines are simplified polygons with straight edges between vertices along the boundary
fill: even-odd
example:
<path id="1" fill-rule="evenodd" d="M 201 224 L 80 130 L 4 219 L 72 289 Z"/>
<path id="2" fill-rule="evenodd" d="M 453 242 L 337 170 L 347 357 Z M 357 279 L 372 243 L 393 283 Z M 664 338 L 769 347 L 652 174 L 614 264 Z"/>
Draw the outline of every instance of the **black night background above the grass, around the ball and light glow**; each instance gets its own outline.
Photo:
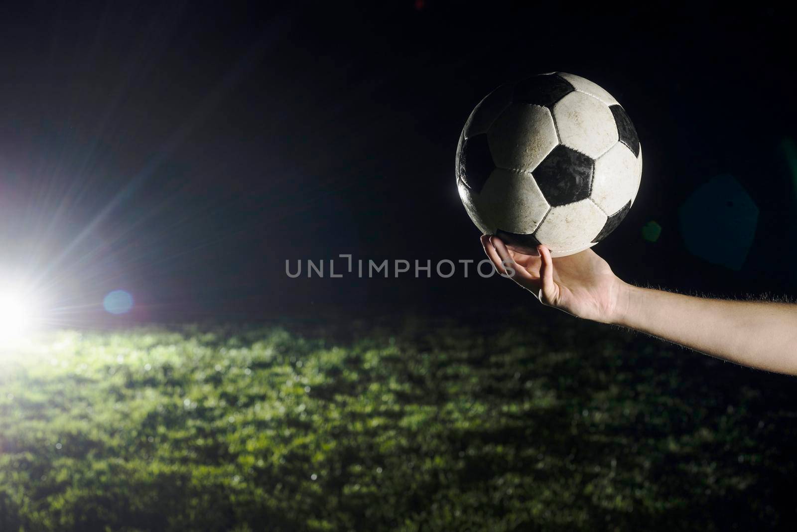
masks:
<path id="1" fill-rule="evenodd" d="M 593 248 L 618 276 L 797 290 L 786 12 L 26 2 L 0 21 L 0 263 L 36 280 L 57 323 L 98 319 L 118 288 L 136 300 L 125 323 L 530 301 L 461 269 L 293 280 L 285 260 L 481 260 L 454 185 L 459 132 L 498 84 L 550 71 L 606 88 L 642 142 L 634 207 Z M 680 205 L 720 174 L 760 209 L 740 269 L 693 256 L 679 227 Z"/>

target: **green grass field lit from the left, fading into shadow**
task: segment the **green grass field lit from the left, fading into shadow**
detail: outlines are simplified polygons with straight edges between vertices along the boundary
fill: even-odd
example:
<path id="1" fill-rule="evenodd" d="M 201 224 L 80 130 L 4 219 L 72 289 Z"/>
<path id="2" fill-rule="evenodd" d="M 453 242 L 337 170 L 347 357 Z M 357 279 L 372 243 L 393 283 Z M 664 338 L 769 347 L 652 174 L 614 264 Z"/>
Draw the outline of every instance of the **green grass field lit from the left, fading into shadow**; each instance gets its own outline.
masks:
<path id="1" fill-rule="evenodd" d="M 794 378 L 540 315 L 2 354 L 0 530 L 791 530 Z"/>

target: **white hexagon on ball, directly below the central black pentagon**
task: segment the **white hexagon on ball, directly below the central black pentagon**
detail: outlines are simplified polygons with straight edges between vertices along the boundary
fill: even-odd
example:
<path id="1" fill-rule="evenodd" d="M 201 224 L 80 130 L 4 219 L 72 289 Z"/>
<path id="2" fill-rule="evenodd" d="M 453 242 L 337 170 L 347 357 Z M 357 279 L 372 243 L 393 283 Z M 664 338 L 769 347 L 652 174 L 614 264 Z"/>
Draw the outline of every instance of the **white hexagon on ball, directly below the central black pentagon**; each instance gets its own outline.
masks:
<path id="1" fill-rule="evenodd" d="M 576 248 L 589 247 L 598 236 L 608 217 L 589 198 L 568 205 L 552 207 L 551 212 L 534 233 L 540 243 L 552 253 L 572 252 Z"/>

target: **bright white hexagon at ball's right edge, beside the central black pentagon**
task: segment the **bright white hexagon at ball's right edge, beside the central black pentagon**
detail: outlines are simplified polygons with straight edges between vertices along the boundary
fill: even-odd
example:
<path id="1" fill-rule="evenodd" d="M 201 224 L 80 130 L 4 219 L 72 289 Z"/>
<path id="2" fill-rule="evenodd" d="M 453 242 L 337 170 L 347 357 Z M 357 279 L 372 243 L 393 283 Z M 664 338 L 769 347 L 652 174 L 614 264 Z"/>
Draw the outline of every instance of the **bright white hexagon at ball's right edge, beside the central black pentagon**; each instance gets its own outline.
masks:
<path id="1" fill-rule="evenodd" d="M 639 162 L 623 143 L 616 143 L 595 161 L 592 201 L 608 216 L 634 198 L 639 183 Z"/>

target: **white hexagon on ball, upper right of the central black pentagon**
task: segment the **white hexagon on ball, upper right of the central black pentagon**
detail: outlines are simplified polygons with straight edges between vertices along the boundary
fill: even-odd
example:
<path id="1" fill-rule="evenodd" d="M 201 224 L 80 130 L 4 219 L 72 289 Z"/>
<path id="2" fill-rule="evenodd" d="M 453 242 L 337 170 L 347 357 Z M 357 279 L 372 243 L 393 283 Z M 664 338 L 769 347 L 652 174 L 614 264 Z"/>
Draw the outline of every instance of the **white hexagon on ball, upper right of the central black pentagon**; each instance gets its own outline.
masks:
<path id="1" fill-rule="evenodd" d="M 553 108 L 559 139 L 575 151 L 599 158 L 618 141 L 614 115 L 602 101 L 571 92 Z"/>

